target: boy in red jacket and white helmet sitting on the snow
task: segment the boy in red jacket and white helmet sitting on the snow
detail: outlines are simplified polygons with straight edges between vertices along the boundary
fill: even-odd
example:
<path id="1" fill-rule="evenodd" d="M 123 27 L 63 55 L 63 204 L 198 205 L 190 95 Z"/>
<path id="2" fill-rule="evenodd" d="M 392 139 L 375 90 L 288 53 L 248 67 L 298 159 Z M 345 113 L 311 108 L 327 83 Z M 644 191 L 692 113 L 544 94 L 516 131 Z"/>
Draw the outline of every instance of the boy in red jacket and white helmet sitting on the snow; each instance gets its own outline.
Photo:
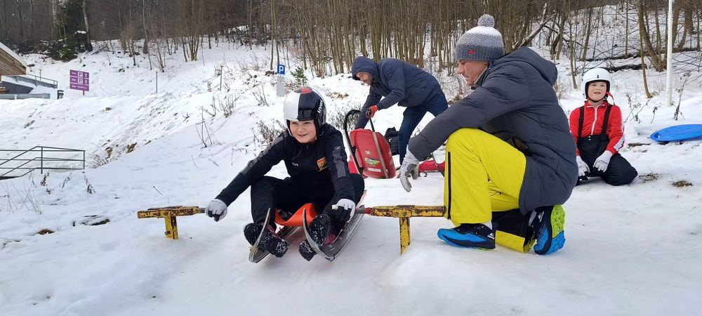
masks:
<path id="1" fill-rule="evenodd" d="M 626 185 L 637 176 L 636 169 L 618 151 L 624 145 L 621 110 L 607 102 L 611 76 L 594 68 L 583 75 L 585 105 L 570 115 L 570 130 L 577 145 L 578 184 L 580 179 L 598 176 L 610 185 Z"/>

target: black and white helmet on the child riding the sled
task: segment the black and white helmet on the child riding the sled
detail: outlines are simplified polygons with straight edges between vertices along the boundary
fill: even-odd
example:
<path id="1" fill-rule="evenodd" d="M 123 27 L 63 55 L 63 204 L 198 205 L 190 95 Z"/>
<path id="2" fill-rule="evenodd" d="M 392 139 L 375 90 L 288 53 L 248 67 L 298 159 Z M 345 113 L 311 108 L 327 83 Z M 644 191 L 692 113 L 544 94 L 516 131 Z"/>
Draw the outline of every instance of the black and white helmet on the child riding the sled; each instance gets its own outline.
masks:
<path id="1" fill-rule="evenodd" d="M 322 125 L 326 123 L 324 98 L 312 91 L 312 88 L 306 86 L 297 88 L 285 98 L 283 117 L 288 131 L 290 131 L 291 121 L 314 120 L 314 127 L 317 128 L 317 136 L 319 136 Z"/>

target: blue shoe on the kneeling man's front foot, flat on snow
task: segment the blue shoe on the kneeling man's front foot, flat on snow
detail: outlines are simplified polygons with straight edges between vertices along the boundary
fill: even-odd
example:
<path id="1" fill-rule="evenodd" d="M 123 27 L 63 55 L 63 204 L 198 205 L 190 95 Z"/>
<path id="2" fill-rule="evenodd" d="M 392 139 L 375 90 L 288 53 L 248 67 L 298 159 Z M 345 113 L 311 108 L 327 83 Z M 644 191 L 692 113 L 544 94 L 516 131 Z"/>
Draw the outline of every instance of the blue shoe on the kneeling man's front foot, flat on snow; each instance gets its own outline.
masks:
<path id="1" fill-rule="evenodd" d="M 452 246 L 495 249 L 495 233 L 483 224 L 461 224 L 451 229 L 442 228 L 437 235 Z"/>

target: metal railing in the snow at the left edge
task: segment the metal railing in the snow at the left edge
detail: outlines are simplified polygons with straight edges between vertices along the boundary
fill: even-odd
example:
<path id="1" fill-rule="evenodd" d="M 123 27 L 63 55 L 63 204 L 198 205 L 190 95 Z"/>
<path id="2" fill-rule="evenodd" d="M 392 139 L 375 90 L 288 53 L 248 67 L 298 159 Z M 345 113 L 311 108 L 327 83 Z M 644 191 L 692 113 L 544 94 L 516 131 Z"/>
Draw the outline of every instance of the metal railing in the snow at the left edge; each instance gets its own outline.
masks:
<path id="1" fill-rule="evenodd" d="M 0 154 L 5 152 L 19 152 L 19 154 L 9 159 L 0 159 L 0 179 L 25 176 L 37 169 L 44 173 L 44 170 L 81 170 L 86 168 L 85 150 L 46 146 L 34 146 L 29 150 L 0 149 Z M 56 156 L 62 154 L 66 154 L 68 157 Z M 56 163 L 59 163 L 58 166 Z M 74 164 L 74 166 L 70 164 Z"/>

